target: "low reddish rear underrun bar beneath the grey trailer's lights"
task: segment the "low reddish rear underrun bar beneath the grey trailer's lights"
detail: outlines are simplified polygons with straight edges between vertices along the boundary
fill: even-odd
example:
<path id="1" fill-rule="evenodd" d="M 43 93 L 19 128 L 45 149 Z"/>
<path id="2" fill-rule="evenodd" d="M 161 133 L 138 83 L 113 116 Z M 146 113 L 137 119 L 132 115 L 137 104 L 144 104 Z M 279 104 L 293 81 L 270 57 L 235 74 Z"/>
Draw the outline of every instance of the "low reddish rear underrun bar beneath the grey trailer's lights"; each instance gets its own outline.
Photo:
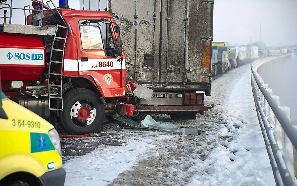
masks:
<path id="1" fill-rule="evenodd" d="M 208 109 L 214 108 L 214 104 L 211 107 L 204 106 L 164 106 L 164 105 L 137 105 L 138 112 L 145 113 L 156 113 L 156 114 L 168 114 L 168 113 L 201 113 L 207 111 Z M 136 110 L 134 110 L 136 111 Z"/>

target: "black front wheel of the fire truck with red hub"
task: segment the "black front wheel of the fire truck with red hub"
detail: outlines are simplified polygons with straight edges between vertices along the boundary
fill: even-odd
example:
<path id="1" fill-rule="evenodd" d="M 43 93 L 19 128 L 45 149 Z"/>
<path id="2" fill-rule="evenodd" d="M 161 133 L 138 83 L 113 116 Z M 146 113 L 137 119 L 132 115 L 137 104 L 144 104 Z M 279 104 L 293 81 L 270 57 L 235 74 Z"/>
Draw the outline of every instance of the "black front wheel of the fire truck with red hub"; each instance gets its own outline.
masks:
<path id="1" fill-rule="evenodd" d="M 64 95 L 61 126 L 73 135 L 95 132 L 102 125 L 105 108 L 95 92 L 78 88 Z"/>

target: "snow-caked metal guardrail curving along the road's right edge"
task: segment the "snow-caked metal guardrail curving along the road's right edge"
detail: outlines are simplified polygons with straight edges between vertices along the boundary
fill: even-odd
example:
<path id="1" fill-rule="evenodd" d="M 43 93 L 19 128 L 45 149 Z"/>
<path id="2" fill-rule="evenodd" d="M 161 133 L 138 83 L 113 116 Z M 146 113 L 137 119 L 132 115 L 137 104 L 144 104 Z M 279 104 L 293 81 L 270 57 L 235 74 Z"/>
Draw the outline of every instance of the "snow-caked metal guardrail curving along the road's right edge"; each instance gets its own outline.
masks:
<path id="1" fill-rule="evenodd" d="M 288 55 L 285 55 L 286 57 Z M 281 57 L 282 58 L 282 57 Z M 252 63 L 251 83 L 255 107 L 276 185 L 295 185 L 293 146 L 297 149 L 297 129 L 291 124 L 289 107 L 280 106 L 279 96 L 264 83 L 257 69 L 272 60 L 269 57 Z"/>

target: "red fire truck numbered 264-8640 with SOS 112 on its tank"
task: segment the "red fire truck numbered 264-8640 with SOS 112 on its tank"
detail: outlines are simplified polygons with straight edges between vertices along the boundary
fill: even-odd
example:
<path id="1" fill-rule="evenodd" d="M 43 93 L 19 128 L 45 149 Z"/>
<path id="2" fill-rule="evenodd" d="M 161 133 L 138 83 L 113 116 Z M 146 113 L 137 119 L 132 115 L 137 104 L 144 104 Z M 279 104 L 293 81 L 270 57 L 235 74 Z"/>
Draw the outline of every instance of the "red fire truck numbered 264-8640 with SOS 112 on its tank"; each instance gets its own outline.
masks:
<path id="1" fill-rule="evenodd" d="M 112 14 L 73 10 L 67 0 L 58 8 L 51 0 L 31 0 L 34 9 L 24 7 L 25 25 L 17 25 L 11 24 L 15 8 L 0 1 L 0 10 L 10 14 L 8 18 L 4 11 L 0 25 L 1 85 L 7 97 L 53 124 L 58 120 L 70 134 L 96 131 L 105 113 L 133 114 L 121 30 Z M 208 55 L 210 47 L 205 50 Z M 205 59 L 209 68 L 209 56 Z M 210 95 L 210 87 L 207 91 Z M 189 101 L 193 95 L 198 99 L 195 92 L 187 95 Z M 192 108 L 188 111 L 196 114 L 209 107 Z"/>

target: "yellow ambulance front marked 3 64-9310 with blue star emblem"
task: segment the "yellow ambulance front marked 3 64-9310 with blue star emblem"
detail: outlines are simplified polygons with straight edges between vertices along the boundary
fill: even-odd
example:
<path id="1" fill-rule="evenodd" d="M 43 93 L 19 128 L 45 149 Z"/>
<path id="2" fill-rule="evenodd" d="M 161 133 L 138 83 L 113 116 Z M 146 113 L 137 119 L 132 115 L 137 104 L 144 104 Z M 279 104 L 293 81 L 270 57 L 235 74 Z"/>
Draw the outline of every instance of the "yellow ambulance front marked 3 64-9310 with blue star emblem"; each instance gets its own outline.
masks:
<path id="1" fill-rule="evenodd" d="M 0 186 L 64 185 L 66 172 L 56 129 L 1 94 Z"/>

